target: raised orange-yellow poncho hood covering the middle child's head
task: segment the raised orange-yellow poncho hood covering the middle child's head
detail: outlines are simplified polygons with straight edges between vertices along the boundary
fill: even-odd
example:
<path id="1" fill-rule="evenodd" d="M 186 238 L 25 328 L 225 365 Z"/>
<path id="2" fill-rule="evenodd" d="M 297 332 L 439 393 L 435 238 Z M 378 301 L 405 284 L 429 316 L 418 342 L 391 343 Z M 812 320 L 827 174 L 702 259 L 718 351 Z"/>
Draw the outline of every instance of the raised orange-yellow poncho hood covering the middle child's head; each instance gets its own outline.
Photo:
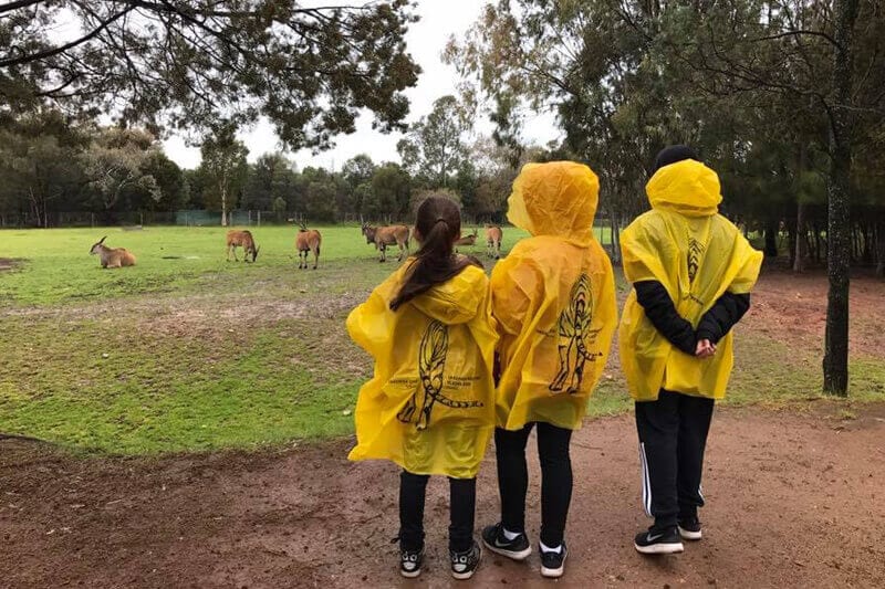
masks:
<path id="1" fill-rule="evenodd" d="M 593 241 L 600 179 L 574 161 L 527 164 L 507 199 L 508 220 L 534 236 L 553 235 L 581 244 Z"/>

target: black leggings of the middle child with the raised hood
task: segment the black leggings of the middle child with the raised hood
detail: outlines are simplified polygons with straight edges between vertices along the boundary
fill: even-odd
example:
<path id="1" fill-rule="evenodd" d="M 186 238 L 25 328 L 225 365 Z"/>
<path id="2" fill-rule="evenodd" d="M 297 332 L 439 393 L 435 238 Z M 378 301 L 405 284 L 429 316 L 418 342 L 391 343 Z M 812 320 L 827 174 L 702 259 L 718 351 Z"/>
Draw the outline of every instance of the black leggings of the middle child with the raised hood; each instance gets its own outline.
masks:
<path id="1" fill-rule="evenodd" d="M 513 533 L 525 532 L 525 492 L 529 469 L 525 444 L 534 423 L 518 431 L 494 430 L 498 456 L 498 491 L 501 494 L 501 523 Z M 541 459 L 541 541 L 555 548 L 565 534 L 565 518 L 572 501 L 572 459 L 569 443 L 572 430 L 538 422 L 538 455 Z"/>

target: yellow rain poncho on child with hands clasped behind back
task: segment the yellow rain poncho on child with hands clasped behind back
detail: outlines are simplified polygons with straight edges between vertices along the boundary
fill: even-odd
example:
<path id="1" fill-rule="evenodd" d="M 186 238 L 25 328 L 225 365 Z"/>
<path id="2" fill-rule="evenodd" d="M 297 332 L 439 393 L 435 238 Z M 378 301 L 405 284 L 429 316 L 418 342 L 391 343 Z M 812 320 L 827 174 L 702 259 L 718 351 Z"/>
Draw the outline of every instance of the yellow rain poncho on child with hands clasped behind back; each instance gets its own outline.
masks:
<path id="1" fill-rule="evenodd" d="M 726 292 L 749 293 L 762 253 L 753 250 L 728 219 L 717 213 L 719 177 L 695 160 L 660 168 L 646 186 L 652 210 L 621 234 L 624 275 L 631 283 L 657 281 L 676 311 L 695 328 Z M 632 292 L 618 330 L 621 366 L 631 396 L 653 401 L 658 391 L 721 399 L 733 365 L 732 334 L 712 358 L 676 349 L 645 316 Z"/>

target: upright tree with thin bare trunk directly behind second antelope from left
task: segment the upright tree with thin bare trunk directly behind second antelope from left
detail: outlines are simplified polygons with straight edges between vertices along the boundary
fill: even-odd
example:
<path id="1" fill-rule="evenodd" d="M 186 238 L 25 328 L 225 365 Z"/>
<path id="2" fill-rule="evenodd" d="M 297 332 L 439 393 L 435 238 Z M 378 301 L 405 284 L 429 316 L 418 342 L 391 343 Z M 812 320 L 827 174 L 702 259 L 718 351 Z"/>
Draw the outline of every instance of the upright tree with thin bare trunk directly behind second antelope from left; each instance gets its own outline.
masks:
<path id="1" fill-rule="evenodd" d="M 206 175 L 207 208 L 218 200 L 221 208 L 221 227 L 228 224 L 228 210 L 236 206 L 235 198 L 242 188 L 249 171 L 246 156 L 249 150 L 237 139 L 236 127 L 218 127 L 200 147 L 200 169 Z"/>

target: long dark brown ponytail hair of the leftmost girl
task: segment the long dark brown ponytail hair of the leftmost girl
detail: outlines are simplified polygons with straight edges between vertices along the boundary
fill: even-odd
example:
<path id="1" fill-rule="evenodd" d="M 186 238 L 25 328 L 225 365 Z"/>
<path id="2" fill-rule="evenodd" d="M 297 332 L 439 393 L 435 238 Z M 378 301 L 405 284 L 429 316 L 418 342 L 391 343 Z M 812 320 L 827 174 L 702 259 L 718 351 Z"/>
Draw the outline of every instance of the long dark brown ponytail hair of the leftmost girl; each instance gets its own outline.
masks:
<path id="1" fill-rule="evenodd" d="M 461 233 L 461 213 L 451 199 L 427 197 L 418 207 L 415 229 L 421 235 L 421 249 L 416 254 L 417 259 L 412 262 L 406 282 L 391 301 L 393 311 L 437 284 L 457 276 L 471 264 L 482 267 L 478 260 L 456 256 L 454 253 L 455 240 Z"/>

